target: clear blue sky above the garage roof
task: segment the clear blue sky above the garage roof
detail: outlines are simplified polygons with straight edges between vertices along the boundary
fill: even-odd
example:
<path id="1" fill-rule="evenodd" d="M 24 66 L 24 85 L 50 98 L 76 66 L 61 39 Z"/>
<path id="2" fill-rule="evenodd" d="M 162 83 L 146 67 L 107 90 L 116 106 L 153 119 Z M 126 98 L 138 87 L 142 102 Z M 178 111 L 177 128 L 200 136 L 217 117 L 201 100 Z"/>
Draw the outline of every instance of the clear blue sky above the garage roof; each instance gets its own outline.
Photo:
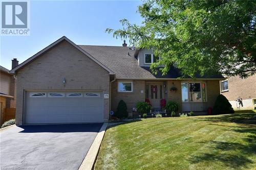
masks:
<path id="1" fill-rule="evenodd" d="M 30 36 L 1 36 L 0 65 L 11 69 L 52 42 L 66 36 L 76 44 L 122 45 L 121 39 L 105 33 L 122 28 L 120 19 L 141 24 L 137 12 L 141 1 L 31 1 Z"/>

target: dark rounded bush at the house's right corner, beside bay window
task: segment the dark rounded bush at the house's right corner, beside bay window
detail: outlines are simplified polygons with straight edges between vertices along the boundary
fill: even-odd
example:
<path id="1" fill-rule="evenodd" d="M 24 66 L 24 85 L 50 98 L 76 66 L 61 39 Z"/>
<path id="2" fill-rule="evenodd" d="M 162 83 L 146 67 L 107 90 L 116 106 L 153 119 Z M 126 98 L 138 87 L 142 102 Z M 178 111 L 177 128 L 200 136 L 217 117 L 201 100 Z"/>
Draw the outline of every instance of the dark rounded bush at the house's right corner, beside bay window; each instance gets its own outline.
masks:
<path id="1" fill-rule="evenodd" d="M 234 109 L 228 102 L 227 98 L 220 94 L 218 95 L 214 108 L 212 109 L 212 114 L 230 114 L 234 113 Z"/>

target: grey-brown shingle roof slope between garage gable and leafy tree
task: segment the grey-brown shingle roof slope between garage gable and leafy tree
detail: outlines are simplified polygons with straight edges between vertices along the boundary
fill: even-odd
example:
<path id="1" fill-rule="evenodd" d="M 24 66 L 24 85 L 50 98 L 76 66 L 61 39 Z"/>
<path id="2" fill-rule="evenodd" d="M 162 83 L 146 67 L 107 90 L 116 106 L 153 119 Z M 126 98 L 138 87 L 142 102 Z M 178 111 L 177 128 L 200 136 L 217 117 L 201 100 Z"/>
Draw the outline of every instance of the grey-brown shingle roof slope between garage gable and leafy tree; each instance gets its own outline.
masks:
<path id="1" fill-rule="evenodd" d="M 117 79 L 176 79 L 182 76 L 181 71 L 176 67 L 170 67 L 170 70 L 164 76 L 160 71 L 157 75 L 153 74 L 149 67 L 139 66 L 138 60 L 134 57 L 135 51 L 131 50 L 129 46 L 78 46 L 111 69 L 116 74 Z M 197 78 L 223 79 L 221 75 L 209 77 L 198 75 Z"/>

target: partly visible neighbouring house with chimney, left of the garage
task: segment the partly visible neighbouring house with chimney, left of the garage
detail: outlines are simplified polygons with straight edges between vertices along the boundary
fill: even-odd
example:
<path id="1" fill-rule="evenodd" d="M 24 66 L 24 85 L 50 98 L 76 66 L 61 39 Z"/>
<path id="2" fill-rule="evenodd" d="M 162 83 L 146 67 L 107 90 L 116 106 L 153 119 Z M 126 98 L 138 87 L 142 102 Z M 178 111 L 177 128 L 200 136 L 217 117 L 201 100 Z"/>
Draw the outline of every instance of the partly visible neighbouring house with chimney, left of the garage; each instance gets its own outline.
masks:
<path id="1" fill-rule="evenodd" d="M 16 59 L 13 60 L 13 63 L 18 65 Z M 15 78 L 3 66 L 0 66 L 0 71 L 0 124 L 2 125 L 5 121 L 15 117 L 15 109 L 13 108 L 16 108 L 16 95 Z"/>

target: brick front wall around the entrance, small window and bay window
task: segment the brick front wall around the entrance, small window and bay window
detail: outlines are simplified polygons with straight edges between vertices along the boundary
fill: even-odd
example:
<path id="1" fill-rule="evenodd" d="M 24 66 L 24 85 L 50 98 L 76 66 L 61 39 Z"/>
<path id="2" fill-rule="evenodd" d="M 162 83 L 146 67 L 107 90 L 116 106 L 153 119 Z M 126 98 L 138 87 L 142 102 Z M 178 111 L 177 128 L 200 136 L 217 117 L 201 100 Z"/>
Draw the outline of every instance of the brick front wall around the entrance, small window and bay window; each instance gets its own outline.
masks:
<path id="1" fill-rule="evenodd" d="M 131 115 L 132 108 L 136 107 L 136 104 L 140 101 L 145 101 L 145 83 L 147 81 L 144 80 L 124 80 L 133 82 L 133 92 L 118 92 L 117 89 L 117 83 L 118 81 L 122 80 L 116 80 L 112 83 L 112 106 L 111 110 L 116 110 L 118 102 L 120 100 L 123 100 L 127 105 L 127 111 Z M 154 82 L 154 81 L 150 81 Z M 157 81 L 159 82 L 159 81 Z M 181 82 L 201 82 L 206 83 L 206 95 L 207 95 L 207 102 L 204 104 L 205 110 L 208 107 L 213 108 L 215 101 L 217 99 L 217 96 L 220 94 L 220 85 L 219 80 L 167 80 L 167 81 L 160 81 L 163 84 L 166 85 L 166 87 L 163 89 L 164 91 L 167 91 L 167 93 L 164 93 L 163 96 L 166 99 L 166 101 L 174 101 L 179 104 L 179 112 L 182 112 L 182 101 L 181 101 Z M 177 91 L 170 91 L 170 87 L 175 86 L 177 88 Z M 143 93 L 141 93 L 141 90 L 143 90 Z M 194 103 L 191 103 L 193 105 Z"/>

